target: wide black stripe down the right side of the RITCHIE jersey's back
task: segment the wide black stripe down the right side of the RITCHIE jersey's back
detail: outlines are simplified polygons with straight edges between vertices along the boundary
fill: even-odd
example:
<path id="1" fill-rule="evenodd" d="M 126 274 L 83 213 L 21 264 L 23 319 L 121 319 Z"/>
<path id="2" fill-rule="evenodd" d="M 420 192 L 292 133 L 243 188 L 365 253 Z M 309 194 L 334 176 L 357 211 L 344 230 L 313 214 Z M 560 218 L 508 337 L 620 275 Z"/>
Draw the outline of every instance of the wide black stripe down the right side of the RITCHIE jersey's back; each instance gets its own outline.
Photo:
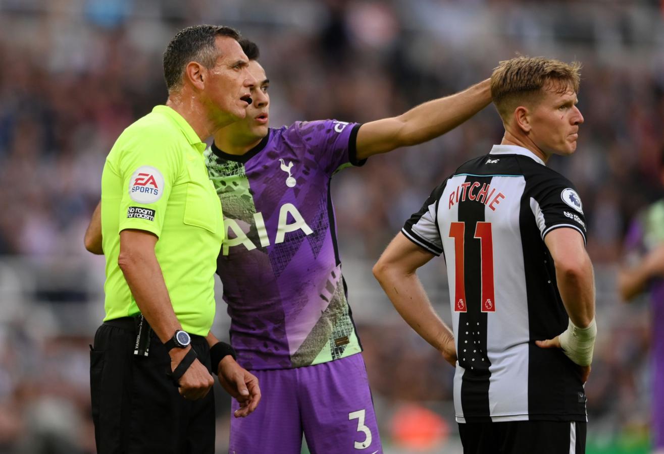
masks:
<path id="1" fill-rule="evenodd" d="M 526 169 L 519 230 L 523 246 L 528 297 L 529 343 L 528 414 L 531 420 L 586 421 L 585 394 L 578 369 L 555 348 L 539 348 L 535 340 L 553 339 L 567 329 L 568 316 L 560 299 L 553 260 L 540 238 L 530 207 L 533 178 Z M 535 167 L 535 171 L 539 171 Z M 530 178 L 529 178 L 530 177 Z"/>

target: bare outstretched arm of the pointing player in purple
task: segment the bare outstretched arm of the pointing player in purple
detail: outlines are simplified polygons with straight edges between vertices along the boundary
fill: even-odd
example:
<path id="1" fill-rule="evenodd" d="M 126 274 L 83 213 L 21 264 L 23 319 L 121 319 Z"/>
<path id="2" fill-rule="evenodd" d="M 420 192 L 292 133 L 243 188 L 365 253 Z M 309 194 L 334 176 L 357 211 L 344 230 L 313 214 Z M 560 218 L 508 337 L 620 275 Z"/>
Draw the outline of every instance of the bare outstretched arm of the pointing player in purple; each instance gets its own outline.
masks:
<path id="1" fill-rule="evenodd" d="M 434 139 L 475 115 L 489 102 L 491 83 L 487 79 L 463 92 L 420 104 L 398 117 L 365 123 L 357 132 L 357 159 Z"/>

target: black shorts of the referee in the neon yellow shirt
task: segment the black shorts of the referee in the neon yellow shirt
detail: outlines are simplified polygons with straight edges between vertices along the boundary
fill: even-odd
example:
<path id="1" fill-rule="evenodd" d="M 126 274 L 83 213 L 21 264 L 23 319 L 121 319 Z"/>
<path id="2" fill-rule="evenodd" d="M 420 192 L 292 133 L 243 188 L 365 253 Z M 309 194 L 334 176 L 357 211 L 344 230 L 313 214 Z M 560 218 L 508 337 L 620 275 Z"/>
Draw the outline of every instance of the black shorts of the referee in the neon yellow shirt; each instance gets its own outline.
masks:
<path id="1" fill-rule="evenodd" d="M 171 357 L 152 333 L 148 356 L 133 354 L 130 317 L 104 323 L 90 352 L 92 419 L 98 454 L 214 453 L 214 393 L 185 400 L 166 376 Z M 191 336 L 210 370 L 204 337 Z"/>

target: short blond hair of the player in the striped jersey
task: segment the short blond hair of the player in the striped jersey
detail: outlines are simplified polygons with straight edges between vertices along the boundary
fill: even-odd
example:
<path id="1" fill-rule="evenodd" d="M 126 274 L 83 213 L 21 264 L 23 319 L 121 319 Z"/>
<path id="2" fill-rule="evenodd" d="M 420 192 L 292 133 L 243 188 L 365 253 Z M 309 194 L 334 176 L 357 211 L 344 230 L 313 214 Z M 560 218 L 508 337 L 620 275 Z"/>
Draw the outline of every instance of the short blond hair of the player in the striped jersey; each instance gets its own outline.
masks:
<path id="1" fill-rule="evenodd" d="M 554 58 L 518 56 L 499 62 L 491 74 L 491 98 L 503 121 L 524 102 L 537 102 L 542 90 L 578 93 L 581 64 Z"/>

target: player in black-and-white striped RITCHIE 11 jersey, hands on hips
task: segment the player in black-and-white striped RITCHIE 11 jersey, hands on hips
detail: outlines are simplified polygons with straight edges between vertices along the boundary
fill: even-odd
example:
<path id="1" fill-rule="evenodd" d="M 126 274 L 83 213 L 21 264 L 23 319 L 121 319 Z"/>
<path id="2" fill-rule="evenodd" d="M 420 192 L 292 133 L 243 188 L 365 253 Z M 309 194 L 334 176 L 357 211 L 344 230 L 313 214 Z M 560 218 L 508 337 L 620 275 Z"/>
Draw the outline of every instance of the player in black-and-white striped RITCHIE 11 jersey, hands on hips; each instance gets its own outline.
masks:
<path id="1" fill-rule="evenodd" d="M 374 275 L 402 317 L 456 366 L 465 454 L 584 453 L 596 337 L 586 220 L 546 167 L 576 151 L 578 64 L 518 57 L 491 76 L 505 136 L 406 222 Z M 454 334 L 416 270 L 445 254 Z"/>

